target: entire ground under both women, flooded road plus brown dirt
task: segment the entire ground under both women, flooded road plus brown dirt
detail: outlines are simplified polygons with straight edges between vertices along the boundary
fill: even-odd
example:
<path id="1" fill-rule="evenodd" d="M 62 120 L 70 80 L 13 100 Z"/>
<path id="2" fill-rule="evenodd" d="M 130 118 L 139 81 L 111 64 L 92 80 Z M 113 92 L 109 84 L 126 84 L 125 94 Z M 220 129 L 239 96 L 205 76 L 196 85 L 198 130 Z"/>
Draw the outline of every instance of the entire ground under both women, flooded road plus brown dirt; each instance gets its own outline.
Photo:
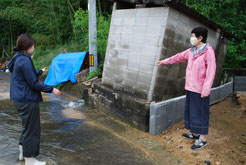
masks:
<path id="1" fill-rule="evenodd" d="M 78 106 L 77 98 L 45 94 L 41 150 L 48 165 L 246 165 L 246 93 L 232 94 L 210 108 L 208 146 L 193 151 L 183 121 L 152 136 Z M 9 75 L 0 73 L 0 165 L 18 161 L 21 120 L 9 100 Z"/>

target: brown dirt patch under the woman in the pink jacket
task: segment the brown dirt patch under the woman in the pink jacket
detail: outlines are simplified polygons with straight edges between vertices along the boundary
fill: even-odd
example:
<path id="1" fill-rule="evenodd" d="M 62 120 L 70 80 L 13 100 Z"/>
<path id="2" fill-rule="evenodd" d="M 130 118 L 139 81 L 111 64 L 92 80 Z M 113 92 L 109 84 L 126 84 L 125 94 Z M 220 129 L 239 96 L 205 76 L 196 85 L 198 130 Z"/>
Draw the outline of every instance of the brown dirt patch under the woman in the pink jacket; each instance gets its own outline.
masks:
<path id="1" fill-rule="evenodd" d="M 162 134 L 163 145 L 189 164 L 241 165 L 246 164 L 246 93 L 233 94 L 210 108 L 208 146 L 193 151 L 193 140 L 181 135 L 188 132 L 183 121 Z M 208 163 L 205 163 L 207 160 Z"/>

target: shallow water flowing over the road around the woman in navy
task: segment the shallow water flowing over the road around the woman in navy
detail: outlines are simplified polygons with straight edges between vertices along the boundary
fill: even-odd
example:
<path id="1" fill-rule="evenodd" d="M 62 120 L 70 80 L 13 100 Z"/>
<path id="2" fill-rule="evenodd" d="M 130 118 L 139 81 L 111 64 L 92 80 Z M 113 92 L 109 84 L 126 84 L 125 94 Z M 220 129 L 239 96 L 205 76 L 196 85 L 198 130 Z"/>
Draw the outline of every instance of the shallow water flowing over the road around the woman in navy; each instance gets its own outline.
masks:
<path id="1" fill-rule="evenodd" d="M 82 101 L 51 94 L 44 99 L 40 103 L 42 133 L 38 159 L 48 165 L 151 164 L 128 143 L 99 126 L 86 124 L 87 120 L 93 122 L 102 116 L 88 111 Z M 0 164 L 24 164 L 18 161 L 21 120 L 12 101 L 0 100 L 0 105 Z"/>

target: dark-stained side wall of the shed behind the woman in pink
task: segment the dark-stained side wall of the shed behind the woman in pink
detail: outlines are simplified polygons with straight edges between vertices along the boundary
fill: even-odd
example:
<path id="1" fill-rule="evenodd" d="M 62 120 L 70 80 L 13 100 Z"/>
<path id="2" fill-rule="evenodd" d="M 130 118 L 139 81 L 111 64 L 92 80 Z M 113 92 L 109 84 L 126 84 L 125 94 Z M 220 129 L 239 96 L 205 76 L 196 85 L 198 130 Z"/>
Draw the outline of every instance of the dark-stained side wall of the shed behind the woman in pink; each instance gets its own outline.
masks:
<path id="1" fill-rule="evenodd" d="M 168 19 L 164 34 L 164 40 L 162 45 L 159 59 L 165 59 L 175 55 L 178 52 L 182 52 L 191 47 L 190 36 L 191 30 L 195 27 L 203 26 L 201 23 L 193 20 L 191 17 L 180 13 L 179 11 L 169 8 Z M 217 50 L 220 34 L 209 27 L 207 42 Z M 214 86 L 219 85 L 219 76 L 224 63 L 224 57 L 227 49 L 227 40 L 221 40 L 221 46 L 216 54 L 217 61 L 217 74 L 216 83 Z M 156 73 L 154 90 L 152 93 L 152 100 L 161 101 L 167 100 L 173 97 L 183 95 L 185 93 L 185 70 L 186 62 L 166 65 L 159 67 Z M 218 81 L 218 83 L 217 83 Z M 170 88 L 170 86 L 172 88 Z"/>

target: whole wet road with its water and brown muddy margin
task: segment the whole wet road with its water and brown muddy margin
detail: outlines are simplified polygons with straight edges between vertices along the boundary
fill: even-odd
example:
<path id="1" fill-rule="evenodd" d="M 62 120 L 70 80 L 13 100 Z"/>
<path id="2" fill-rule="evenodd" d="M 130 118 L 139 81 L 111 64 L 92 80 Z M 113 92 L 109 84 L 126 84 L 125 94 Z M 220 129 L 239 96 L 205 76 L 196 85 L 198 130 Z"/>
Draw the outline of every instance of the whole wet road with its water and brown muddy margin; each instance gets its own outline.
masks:
<path id="1" fill-rule="evenodd" d="M 48 165 L 186 164 L 152 136 L 88 110 L 77 98 L 43 96 L 38 159 Z M 20 130 L 21 120 L 9 100 L 9 75 L 0 73 L 0 165 L 24 165 L 18 161 Z"/>

